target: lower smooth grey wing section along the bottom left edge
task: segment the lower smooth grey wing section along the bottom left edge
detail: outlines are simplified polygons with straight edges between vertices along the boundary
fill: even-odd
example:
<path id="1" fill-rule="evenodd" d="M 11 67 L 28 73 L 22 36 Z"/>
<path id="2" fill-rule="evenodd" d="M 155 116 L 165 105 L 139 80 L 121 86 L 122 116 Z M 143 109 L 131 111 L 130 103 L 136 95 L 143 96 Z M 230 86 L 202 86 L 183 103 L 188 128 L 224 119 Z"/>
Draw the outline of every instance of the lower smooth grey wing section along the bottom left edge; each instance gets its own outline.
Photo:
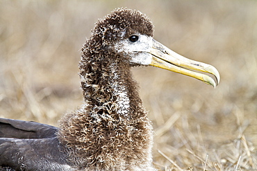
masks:
<path id="1" fill-rule="evenodd" d="M 0 165 L 15 170 L 74 170 L 57 138 L 0 138 Z"/>

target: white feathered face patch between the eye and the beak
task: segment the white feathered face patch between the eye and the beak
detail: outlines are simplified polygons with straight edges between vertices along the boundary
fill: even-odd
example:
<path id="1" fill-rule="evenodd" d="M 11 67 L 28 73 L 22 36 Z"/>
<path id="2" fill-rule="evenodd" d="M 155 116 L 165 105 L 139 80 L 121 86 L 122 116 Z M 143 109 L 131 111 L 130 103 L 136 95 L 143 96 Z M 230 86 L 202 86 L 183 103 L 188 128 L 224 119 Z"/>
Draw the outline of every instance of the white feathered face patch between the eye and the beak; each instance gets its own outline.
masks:
<path id="1" fill-rule="evenodd" d="M 117 53 L 123 53 L 124 55 L 130 56 L 131 64 L 151 64 L 152 55 L 149 52 L 152 48 L 153 38 L 147 35 L 133 35 L 138 36 L 138 41 L 131 42 L 129 38 L 119 40 L 115 43 L 115 51 L 117 51 Z"/>

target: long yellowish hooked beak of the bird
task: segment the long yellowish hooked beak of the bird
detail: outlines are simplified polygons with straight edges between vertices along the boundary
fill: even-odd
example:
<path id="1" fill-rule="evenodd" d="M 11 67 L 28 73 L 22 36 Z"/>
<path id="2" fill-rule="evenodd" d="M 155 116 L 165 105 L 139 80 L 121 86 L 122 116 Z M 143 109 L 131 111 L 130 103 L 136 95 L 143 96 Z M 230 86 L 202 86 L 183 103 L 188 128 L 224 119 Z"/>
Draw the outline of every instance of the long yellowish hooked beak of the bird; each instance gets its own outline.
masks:
<path id="1" fill-rule="evenodd" d="M 153 46 L 149 51 L 152 55 L 151 66 L 157 66 L 161 69 L 167 69 L 176 73 L 181 73 L 183 75 L 188 75 L 192 78 L 197 78 L 205 82 L 206 84 L 212 85 L 214 88 L 219 84 L 219 72 L 214 66 L 209 64 L 204 64 L 202 62 L 197 62 L 194 60 L 189 60 L 178 53 L 170 50 L 163 44 L 160 44 L 153 39 Z M 210 73 L 215 76 L 216 82 L 213 78 L 204 73 L 197 73 L 195 71 L 201 71 L 205 73 Z"/>

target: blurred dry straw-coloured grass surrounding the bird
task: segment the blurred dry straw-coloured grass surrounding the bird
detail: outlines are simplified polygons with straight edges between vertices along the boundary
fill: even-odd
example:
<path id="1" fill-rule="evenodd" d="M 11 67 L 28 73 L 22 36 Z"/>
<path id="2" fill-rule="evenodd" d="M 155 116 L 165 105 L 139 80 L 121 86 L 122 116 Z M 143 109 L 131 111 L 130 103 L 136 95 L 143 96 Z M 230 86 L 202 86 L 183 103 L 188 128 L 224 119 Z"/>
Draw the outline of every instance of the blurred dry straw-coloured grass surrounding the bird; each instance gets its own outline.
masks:
<path id="1" fill-rule="evenodd" d="M 257 170 L 257 1 L 0 1 L 0 117 L 57 126 L 81 105 L 79 49 L 117 7 L 146 13 L 155 39 L 221 75 L 213 89 L 133 69 L 156 131 L 156 168 Z"/>

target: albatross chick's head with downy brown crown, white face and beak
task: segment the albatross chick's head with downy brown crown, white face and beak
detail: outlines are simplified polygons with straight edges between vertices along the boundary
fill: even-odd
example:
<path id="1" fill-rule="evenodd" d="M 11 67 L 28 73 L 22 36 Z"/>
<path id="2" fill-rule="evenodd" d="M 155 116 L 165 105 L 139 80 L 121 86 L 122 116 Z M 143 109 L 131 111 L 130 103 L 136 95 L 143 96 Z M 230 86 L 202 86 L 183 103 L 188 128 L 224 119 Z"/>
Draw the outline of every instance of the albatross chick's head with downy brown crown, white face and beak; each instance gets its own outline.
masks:
<path id="1" fill-rule="evenodd" d="M 113 51 L 131 66 L 156 66 L 197 78 L 213 87 L 219 84 L 219 72 L 214 66 L 190 60 L 157 42 L 153 38 L 154 25 L 139 11 L 114 10 L 97 22 L 92 35 L 97 51 Z"/>

